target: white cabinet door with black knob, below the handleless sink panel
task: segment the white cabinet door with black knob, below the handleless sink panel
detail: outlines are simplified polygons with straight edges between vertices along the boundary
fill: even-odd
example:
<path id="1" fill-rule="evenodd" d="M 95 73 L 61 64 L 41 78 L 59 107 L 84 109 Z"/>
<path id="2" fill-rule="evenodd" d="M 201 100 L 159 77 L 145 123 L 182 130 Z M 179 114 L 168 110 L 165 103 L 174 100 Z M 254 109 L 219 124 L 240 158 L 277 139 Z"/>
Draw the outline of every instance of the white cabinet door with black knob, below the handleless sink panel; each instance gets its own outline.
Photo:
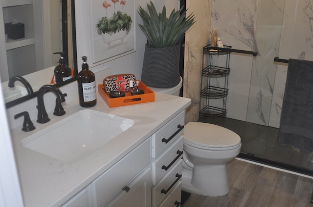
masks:
<path id="1" fill-rule="evenodd" d="M 125 186 L 105 207 L 151 207 L 151 169 L 146 169 Z"/>

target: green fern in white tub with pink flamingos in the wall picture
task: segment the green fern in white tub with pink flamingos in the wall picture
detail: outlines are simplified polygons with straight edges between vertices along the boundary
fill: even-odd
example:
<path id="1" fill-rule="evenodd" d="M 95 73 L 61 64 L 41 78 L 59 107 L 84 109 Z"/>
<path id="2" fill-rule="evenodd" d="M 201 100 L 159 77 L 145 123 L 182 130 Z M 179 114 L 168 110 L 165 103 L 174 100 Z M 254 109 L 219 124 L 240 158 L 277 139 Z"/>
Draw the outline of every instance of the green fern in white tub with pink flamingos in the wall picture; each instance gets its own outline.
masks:
<path id="1" fill-rule="evenodd" d="M 121 11 L 115 12 L 115 3 L 119 0 L 112 0 L 114 3 L 114 13 L 111 18 L 107 18 L 107 9 L 111 7 L 106 0 L 103 2 L 102 6 L 106 9 L 106 16 L 98 20 L 96 24 L 96 29 L 99 35 L 102 36 L 102 40 L 110 45 L 110 42 L 126 37 L 126 35 L 131 30 L 132 18 L 126 13 Z M 122 7 L 126 4 L 125 0 L 121 0 L 120 5 Z"/>

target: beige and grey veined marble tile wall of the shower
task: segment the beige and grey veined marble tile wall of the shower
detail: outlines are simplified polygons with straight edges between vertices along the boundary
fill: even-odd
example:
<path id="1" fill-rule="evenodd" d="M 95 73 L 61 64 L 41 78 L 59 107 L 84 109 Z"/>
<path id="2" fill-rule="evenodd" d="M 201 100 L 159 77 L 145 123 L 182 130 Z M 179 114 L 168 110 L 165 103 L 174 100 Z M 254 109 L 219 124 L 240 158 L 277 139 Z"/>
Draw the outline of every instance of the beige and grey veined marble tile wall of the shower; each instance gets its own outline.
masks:
<path id="1" fill-rule="evenodd" d="M 259 52 L 231 53 L 227 117 L 279 127 L 288 65 L 273 58 L 313 60 L 313 0 L 201 2 L 187 2 L 201 18 L 186 36 L 184 96 L 192 98 L 186 121 L 199 118 L 201 50 L 216 27 L 224 45 Z"/>

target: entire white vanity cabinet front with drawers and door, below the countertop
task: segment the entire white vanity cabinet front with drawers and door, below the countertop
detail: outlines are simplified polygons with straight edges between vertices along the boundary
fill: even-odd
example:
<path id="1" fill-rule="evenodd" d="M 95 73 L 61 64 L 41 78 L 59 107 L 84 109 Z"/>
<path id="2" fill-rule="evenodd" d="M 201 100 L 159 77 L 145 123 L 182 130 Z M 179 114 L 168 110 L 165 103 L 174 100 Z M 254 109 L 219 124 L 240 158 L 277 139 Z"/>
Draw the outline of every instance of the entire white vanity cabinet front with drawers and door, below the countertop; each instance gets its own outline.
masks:
<path id="1" fill-rule="evenodd" d="M 182 111 L 62 207 L 180 207 Z"/>

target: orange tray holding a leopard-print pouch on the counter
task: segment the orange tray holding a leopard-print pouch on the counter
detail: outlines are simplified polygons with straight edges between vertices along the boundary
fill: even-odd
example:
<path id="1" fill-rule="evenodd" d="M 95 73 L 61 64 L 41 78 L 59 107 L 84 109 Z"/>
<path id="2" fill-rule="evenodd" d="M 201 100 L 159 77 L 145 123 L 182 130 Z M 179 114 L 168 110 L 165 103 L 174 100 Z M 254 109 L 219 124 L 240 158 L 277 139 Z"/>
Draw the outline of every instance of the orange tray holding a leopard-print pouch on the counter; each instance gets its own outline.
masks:
<path id="1" fill-rule="evenodd" d="M 140 81 L 139 85 L 144 94 L 132 95 L 131 92 L 125 92 L 125 96 L 119 98 L 110 98 L 109 94 L 105 93 L 104 89 L 102 88 L 103 84 L 98 85 L 98 90 L 99 94 L 110 108 L 155 101 L 155 93 L 143 82 Z"/>

